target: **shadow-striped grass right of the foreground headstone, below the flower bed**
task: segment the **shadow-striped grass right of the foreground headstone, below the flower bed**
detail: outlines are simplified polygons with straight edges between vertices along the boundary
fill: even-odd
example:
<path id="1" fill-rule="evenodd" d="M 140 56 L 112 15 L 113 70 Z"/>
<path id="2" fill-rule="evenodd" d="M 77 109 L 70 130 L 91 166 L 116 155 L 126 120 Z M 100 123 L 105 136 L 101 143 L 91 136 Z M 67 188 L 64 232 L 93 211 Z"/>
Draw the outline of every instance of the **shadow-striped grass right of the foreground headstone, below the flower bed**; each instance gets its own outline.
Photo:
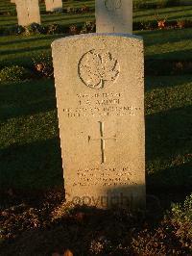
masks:
<path id="1" fill-rule="evenodd" d="M 147 80 L 146 150 L 149 183 L 192 186 L 192 77 Z"/>

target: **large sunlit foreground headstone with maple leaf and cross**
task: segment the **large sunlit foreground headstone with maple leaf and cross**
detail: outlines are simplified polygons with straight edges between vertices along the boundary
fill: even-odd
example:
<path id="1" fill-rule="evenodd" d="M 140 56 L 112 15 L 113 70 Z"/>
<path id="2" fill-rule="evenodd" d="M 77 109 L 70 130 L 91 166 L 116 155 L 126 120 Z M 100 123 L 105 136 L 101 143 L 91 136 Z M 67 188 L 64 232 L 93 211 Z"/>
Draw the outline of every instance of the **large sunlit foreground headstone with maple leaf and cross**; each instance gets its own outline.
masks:
<path id="1" fill-rule="evenodd" d="M 89 34 L 52 48 L 66 199 L 145 205 L 142 39 Z"/>

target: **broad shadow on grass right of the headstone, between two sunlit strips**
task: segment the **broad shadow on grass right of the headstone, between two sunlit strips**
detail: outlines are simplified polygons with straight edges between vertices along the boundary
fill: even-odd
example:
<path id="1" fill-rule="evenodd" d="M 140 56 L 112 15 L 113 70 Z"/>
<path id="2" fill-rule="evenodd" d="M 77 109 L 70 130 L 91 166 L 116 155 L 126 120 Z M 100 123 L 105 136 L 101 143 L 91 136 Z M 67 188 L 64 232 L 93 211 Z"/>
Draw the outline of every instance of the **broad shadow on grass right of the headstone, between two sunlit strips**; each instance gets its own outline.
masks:
<path id="1" fill-rule="evenodd" d="M 146 116 L 147 161 L 191 154 L 192 107 Z M 178 163 L 180 165 L 180 163 Z"/>

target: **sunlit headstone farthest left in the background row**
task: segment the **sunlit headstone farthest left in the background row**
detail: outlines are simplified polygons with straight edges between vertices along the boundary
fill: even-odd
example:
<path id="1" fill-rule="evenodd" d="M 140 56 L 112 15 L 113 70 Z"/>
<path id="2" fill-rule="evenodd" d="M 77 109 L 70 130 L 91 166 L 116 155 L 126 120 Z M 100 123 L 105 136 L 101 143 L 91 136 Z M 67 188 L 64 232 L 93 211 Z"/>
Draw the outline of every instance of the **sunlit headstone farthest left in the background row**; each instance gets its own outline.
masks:
<path id="1" fill-rule="evenodd" d="M 32 23 L 40 24 L 38 0 L 16 0 L 18 25 L 28 26 Z"/>

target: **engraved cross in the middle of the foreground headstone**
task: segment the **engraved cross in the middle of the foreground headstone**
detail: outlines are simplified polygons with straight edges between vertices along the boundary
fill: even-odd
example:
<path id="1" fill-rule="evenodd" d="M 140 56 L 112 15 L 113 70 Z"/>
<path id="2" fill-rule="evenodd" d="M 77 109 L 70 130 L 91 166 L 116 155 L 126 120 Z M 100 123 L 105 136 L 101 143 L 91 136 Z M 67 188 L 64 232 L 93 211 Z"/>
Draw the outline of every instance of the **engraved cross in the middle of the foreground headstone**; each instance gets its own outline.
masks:
<path id="1" fill-rule="evenodd" d="M 106 163 L 106 155 L 105 155 L 105 147 L 106 147 L 106 141 L 107 140 L 114 140 L 116 141 L 116 135 L 114 135 L 111 138 L 105 138 L 104 137 L 104 122 L 99 121 L 99 126 L 100 126 L 100 138 L 98 139 L 92 139 L 90 136 L 88 136 L 88 142 L 90 141 L 101 141 L 101 164 L 105 164 Z"/>

